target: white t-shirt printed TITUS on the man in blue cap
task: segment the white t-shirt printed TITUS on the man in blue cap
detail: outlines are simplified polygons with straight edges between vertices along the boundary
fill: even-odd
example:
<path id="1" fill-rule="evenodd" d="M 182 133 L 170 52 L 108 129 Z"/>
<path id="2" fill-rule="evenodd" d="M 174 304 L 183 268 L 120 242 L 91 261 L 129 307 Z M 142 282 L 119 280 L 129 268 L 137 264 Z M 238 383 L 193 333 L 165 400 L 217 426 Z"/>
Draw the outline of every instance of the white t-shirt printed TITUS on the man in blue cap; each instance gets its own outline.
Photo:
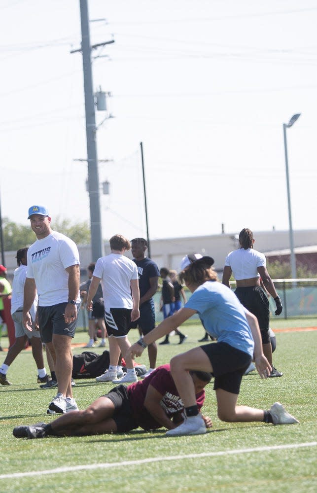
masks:
<path id="1" fill-rule="evenodd" d="M 57 231 L 52 231 L 30 246 L 27 278 L 35 280 L 39 306 L 53 306 L 68 301 L 69 274 L 65 269 L 79 264 L 76 244 Z M 79 290 L 76 302 L 80 303 Z"/>

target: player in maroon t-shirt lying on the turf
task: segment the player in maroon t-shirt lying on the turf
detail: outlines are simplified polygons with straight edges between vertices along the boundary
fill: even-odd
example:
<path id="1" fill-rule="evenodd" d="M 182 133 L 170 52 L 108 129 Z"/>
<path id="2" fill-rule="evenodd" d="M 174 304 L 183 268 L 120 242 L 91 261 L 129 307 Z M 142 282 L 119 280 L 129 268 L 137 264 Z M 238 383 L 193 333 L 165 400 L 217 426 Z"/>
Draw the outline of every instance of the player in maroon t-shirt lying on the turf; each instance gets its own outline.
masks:
<path id="1" fill-rule="evenodd" d="M 190 371 L 195 402 L 199 412 L 205 400 L 204 387 L 211 381 L 211 373 Z M 98 435 L 123 433 L 141 426 L 144 430 L 175 428 L 184 419 L 183 403 L 175 387 L 170 365 L 156 368 L 144 380 L 119 385 L 99 397 L 83 411 L 70 411 L 49 424 L 16 426 L 16 438 L 44 438 L 54 436 Z M 201 415 L 202 416 L 202 415 Z M 211 419 L 202 416 L 208 428 Z"/>

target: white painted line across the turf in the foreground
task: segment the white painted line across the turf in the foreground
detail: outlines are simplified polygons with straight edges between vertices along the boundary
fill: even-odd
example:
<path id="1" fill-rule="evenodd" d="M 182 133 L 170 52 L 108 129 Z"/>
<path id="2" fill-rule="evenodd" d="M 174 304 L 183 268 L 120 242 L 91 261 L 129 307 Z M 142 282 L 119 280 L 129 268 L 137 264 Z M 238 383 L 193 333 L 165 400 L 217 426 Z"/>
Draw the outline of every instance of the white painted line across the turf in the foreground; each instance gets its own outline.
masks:
<path id="1" fill-rule="evenodd" d="M 247 454 L 250 452 L 251 453 L 265 452 L 265 451 L 281 450 L 281 449 L 299 449 L 301 447 L 316 447 L 316 445 L 317 442 L 307 442 L 307 443 L 295 443 L 289 445 L 274 445 L 272 447 L 256 447 L 254 449 L 236 449 L 236 450 L 223 450 L 221 452 L 205 452 L 203 454 L 187 454 L 185 456 L 153 457 L 153 458 L 138 459 L 138 460 L 124 460 L 122 462 L 83 464 L 83 465 L 75 465 L 69 467 L 57 467 L 56 469 L 46 469 L 44 471 L 29 471 L 29 472 L 15 472 L 12 474 L 0 474 L 0 479 L 24 478 L 28 476 L 42 476 L 44 474 L 60 474 L 65 472 L 84 471 L 84 470 L 93 470 L 93 469 L 102 469 L 102 468 L 110 469 L 112 467 L 146 464 L 147 462 L 163 462 L 165 460 L 217 457 L 217 456 L 234 455 L 234 454 Z"/>

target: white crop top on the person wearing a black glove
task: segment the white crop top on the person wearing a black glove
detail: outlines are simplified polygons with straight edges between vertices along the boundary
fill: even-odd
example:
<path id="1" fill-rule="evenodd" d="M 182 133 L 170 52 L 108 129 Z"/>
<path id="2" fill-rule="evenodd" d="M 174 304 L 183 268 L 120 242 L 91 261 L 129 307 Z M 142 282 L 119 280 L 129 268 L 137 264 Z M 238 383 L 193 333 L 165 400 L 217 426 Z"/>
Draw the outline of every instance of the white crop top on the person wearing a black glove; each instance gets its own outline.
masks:
<path id="1" fill-rule="evenodd" d="M 228 253 L 224 265 L 231 267 L 235 280 L 239 281 L 260 277 L 257 268 L 266 267 L 266 258 L 263 253 L 253 248 L 239 248 Z"/>

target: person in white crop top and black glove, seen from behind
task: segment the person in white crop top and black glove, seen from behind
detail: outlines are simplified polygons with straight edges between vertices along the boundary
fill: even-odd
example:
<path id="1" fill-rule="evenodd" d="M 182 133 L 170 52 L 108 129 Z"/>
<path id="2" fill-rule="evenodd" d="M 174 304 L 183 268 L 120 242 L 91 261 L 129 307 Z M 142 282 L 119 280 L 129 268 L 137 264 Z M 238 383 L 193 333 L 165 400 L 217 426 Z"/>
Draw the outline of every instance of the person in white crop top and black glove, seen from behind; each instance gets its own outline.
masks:
<path id="1" fill-rule="evenodd" d="M 244 228 L 240 231 L 240 247 L 227 255 L 222 283 L 230 287 L 229 280 L 231 274 L 234 275 L 237 283 L 235 294 L 247 310 L 256 316 L 259 322 L 263 352 L 272 366 L 270 377 L 282 377 L 282 372 L 273 366 L 272 344 L 269 333 L 269 300 L 261 287 L 261 283 L 275 301 L 275 315 L 281 315 L 282 302 L 267 271 L 265 255 L 253 248 L 254 241 L 251 230 Z"/>

